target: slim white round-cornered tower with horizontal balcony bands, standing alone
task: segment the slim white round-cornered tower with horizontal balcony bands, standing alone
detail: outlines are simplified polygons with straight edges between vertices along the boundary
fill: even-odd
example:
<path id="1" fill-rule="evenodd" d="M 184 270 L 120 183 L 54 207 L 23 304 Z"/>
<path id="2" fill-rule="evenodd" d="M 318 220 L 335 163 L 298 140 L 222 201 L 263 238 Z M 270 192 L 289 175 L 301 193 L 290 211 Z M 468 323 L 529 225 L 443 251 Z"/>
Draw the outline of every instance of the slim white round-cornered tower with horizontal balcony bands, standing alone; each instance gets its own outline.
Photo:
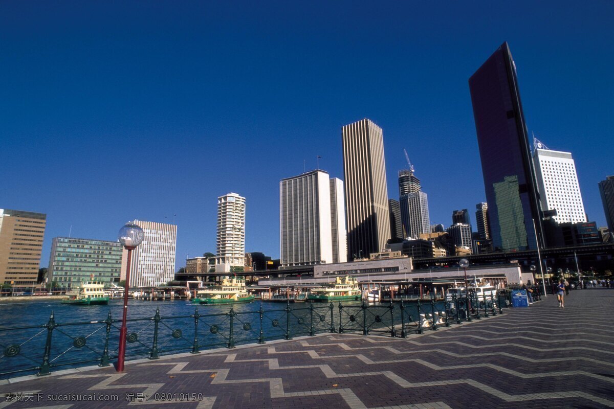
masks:
<path id="1" fill-rule="evenodd" d="M 245 265 L 245 197 L 228 193 L 217 198 L 216 272 Z"/>

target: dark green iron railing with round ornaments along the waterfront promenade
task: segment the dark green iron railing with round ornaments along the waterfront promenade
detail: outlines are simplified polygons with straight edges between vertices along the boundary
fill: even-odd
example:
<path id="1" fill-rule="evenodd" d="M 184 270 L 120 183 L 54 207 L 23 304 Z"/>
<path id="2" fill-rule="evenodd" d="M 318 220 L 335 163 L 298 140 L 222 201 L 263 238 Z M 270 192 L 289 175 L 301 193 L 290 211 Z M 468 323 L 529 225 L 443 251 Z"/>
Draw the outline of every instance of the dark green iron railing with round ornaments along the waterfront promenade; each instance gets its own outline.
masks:
<path id="1" fill-rule="evenodd" d="M 162 316 L 126 320 L 126 357 L 149 357 L 190 352 L 216 347 L 234 348 L 239 344 L 265 343 L 268 340 L 314 336 L 323 332 L 356 333 L 407 337 L 424 331 L 437 331 L 463 321 L 497 315 L 511 305 L 507 294 L 457 297 L 430 302 L 390 302 L 356 304 L 309 302 L 237 312 Z M 108 366 L 119 349 L 122 321 L 108 313 L 99 321 L 63 323 L 52 312 L 49 321 L 36 326 L 0 328 L 0 378 L 37 373 L 87 364 Z"/>

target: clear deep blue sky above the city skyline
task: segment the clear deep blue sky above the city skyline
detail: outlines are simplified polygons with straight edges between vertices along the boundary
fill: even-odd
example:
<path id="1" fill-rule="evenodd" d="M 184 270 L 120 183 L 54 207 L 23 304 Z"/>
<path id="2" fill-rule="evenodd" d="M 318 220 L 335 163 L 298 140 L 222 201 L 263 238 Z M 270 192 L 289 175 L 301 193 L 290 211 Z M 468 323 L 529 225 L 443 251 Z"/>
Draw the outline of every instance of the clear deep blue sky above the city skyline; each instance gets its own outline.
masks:
<path id="1" fill-rule="evenodd" d="M 503 41 L 529 132 L 571 151 L 590 220 L 614 174 L 614 2 L 0 3 L 0 207 L 53 237 L 176 221 L 177 267 L 215 253 L 217 197 L 247 198 L 246 250 L 279 257 L 279 180 L 343 179 L 341 126 L 409 152 L 433 223 L 485 200 L 467 80 Z M 176 216 L 174 216 L 176 215 Z M 473 219 L 473 217 L 472 217 Z"/>

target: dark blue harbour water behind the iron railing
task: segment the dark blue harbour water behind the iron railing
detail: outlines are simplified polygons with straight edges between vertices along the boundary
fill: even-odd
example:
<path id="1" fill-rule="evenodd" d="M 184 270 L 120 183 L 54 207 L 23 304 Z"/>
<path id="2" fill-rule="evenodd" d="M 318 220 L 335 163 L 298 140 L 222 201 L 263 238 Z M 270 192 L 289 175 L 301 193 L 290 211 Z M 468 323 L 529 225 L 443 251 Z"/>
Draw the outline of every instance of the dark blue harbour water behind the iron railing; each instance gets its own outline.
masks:
<path id="1" fill-rule="evenodd" d="M 367 320 L 376 331 L 393 321 L 388 307 L 373 306 L 363 314 L 360 302 L 343 303 L 341 310 L 338 303 L 195 306 L 186 300 L 130 300 L 128 305 L 126 359 L 339 331 L 340 326 L 362 331 Z M 59 300 L 0 304 L 0 378 L 36 373 L 46 364 L 53 371 L 112 363 L 122 306 L 122 300 L 91 306 Z"/>

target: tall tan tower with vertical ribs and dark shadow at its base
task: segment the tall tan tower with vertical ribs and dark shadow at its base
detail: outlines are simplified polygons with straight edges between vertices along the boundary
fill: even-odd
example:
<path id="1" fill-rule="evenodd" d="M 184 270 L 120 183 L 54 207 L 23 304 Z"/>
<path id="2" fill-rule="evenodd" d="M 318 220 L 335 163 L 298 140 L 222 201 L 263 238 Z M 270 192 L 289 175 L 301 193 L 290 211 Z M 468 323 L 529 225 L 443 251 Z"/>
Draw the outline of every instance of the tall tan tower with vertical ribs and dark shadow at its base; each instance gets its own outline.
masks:
<path id="1" fill-rule="evenodd" d="M 341 142 L 348 257 L 362 258 L 384 250 L 390 239 L 384 136 L 365 118 L 343 126 Z"/>

